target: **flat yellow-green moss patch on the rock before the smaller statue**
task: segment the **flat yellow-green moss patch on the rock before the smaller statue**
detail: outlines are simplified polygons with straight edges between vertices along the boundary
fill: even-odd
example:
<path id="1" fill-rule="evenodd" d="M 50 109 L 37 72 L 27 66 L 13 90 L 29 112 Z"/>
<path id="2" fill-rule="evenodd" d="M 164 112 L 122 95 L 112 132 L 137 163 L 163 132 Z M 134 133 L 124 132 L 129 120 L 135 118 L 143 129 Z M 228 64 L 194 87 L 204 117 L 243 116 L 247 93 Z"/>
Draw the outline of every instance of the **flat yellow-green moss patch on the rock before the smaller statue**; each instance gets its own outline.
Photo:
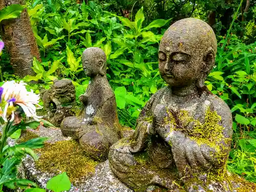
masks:
<path id="1" fill-rule="evenodd" d="M 95 166 L 98 164 L 97 161 L 86 157 L 80 145 L 73 140 L 46 143 L 44 148 L 37 151 L 40 154 L 36 162 L 39 170 L 54 174 L 67 172 L 73 183 L 94 174 Z"/>

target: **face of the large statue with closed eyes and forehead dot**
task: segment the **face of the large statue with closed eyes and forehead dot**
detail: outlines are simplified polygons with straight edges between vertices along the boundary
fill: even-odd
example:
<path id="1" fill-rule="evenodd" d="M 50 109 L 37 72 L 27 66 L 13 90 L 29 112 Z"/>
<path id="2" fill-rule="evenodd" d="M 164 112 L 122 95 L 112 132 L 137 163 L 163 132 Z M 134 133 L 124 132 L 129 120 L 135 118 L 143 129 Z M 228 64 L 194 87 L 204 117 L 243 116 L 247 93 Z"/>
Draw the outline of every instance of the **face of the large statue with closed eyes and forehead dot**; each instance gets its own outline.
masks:
<path id="1" fill-rule="evenodd" d="M 159 71 L 170 86 L 183 87 L 192 84 L 200 75 L 203 58 L 165 47 L 159 50 Z"/>

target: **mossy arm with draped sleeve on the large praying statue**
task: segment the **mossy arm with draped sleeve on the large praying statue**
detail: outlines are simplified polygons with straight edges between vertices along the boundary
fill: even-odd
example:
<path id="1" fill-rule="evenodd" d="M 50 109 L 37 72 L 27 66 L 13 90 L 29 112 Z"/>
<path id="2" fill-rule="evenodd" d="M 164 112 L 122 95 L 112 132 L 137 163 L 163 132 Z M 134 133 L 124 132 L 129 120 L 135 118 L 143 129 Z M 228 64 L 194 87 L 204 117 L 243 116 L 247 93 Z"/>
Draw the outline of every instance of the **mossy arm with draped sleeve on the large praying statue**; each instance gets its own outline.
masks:
<path id="1" fill-rule="evenodd" d="M 183 173 L 186 166 L 204 167 L 222 167 L 228 158 L 231 137 L 232 137 L 232 117 L 228 106 L 226 110 L 216 110 L 222 120 L 219 125 L 224 127 L 223 138 L 220 138 L 217 143 L 211 142 L 208 138 L 205 142 L 197 140 L 197 136 L 191 137 L 181 129 L 177 129 L 177 124 L 172 121 L 164 121 L 162 115 L 156 120 L 157 133 L 172 147 L 172 153 L 176 162 L 179 173 Z M 156 109 L 159 109 L 157 106 Z M 159 111 L 154 112 L 154 118 Z M 166 111 L 165 111 L 166 112 Z M 165 113 L 165 116 L 167 114 Z M 184 174 L 184 173 L 183 173 Z"/>

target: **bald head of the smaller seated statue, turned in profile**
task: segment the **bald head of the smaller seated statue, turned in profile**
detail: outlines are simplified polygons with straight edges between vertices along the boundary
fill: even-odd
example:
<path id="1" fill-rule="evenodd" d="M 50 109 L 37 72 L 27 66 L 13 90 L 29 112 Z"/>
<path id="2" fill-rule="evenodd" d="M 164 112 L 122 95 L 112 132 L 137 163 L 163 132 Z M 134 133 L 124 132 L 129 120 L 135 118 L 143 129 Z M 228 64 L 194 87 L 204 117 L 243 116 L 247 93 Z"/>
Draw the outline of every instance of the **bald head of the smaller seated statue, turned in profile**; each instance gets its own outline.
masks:
<path id="1" fill-rule="evenodd" d="M 106 55 L 97 47 L 90 47 L 82 53 L 82 67 L 87 76 L 106 74 Z"/>

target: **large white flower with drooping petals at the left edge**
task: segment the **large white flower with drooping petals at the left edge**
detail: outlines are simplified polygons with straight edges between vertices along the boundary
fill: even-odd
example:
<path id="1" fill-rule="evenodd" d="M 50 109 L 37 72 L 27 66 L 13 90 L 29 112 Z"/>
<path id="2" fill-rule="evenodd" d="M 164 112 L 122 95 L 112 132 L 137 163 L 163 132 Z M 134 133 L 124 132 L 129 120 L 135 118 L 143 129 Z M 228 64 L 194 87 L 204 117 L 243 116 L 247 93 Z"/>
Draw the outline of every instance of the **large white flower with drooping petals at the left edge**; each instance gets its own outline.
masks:
<path id="1" fill-rule="evenodd" d="M 27 117 L 32 117 L 35 120 L 38 120 L 38 118 L 41 118 L 36 115 L 36 106 L 41 108 L 41 106 L 38 104 L 39 102 L 39 96 L 34 94 L 33 91 L 28 92 L 26 87 L 26 83 L 23 81 L 15 82 L 7 81 L 3 84 L 2 88 L 3 94 L 2 94 L 2 100 L 7 101 L 7 104 L 5 105 L 4 113 L 3 113 L 3 119 L 5 121 L 8 121 L 8 117 L 10 114 L 8 114 L 8 109 L 12 109 L 13 106 L 19 105 L 23 111 L 25 112 Z M 36 105 L 36 106 L 35 106 Z M 10 113 L 10 112 L 9 112 Z M 14 111 L 11 111 L 11 119 L 10 121 L 14 120 Z"/>

